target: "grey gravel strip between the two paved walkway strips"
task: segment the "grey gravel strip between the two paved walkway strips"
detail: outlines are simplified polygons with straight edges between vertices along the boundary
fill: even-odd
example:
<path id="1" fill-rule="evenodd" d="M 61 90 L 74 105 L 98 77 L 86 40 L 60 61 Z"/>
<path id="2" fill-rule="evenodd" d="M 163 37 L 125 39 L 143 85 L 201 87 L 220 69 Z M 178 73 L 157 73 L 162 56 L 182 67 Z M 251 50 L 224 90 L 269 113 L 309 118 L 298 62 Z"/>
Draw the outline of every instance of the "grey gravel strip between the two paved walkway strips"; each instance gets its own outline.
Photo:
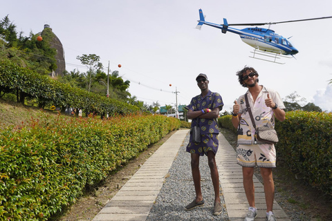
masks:
<path id="1" fill-rule="evenodd" d="M 165 179 L 165 184 L 163 184 L 147 220 L 228 220 L 225 207 L 220 215 L 213 215 L 214 189 L 206 156 L 200 157 L 199 165 L 205 204 L 191 211 L 185 211 L 184 207 L 196 198 L 190 167 L 190 153 L 185 151 L 188 142 L 189 135 L 185 137 L 176 160 L 169 169 L 169 177 Z M 223 204 L 225 204 L 225 200 L 221 195 L 221 205 Z"/>

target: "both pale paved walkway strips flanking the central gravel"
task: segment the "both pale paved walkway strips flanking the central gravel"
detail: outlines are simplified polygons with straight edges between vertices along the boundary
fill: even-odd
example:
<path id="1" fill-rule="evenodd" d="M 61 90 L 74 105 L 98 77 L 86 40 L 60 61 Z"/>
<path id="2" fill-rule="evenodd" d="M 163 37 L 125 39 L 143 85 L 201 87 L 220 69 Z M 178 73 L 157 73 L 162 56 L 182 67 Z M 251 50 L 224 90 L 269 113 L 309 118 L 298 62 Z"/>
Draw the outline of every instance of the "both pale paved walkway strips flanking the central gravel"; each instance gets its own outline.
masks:
<path id="1" fill-rule="evenodd" d="M 146 220 L 188 131 L 176 131 L 149 157 L 93 220 Z M 241 166 L 236 163 L 235 158 L 234 149 L 225 140 L 225 137 L 219 134 L 219 152 L 216 155 L 216 163 L 228 217 L 230 220 L 243 220 L 248 209 L 248 202 L 242 185 Z M 254 177 L 254 182 L 257 217 L 261 217 L 255 220 L 265 220 L 264 188 L 256 177 Z M 273 211 L 277 220 L 289 220 L 277 202 L 274 203 Z"/>

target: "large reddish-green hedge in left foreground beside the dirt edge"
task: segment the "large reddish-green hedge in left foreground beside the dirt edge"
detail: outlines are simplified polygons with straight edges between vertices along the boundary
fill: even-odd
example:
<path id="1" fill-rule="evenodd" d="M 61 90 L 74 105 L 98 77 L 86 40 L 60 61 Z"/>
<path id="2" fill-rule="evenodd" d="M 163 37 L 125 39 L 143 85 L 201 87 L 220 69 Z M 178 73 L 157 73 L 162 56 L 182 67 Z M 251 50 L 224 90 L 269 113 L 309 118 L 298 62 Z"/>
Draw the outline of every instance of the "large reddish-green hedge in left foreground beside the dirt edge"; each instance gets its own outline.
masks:
<path id="1" fill-rule="evenodd" d="M 47 220 L 180 126 L 162 115 L 50 119 L 0 131 L 1 220 Z"/>

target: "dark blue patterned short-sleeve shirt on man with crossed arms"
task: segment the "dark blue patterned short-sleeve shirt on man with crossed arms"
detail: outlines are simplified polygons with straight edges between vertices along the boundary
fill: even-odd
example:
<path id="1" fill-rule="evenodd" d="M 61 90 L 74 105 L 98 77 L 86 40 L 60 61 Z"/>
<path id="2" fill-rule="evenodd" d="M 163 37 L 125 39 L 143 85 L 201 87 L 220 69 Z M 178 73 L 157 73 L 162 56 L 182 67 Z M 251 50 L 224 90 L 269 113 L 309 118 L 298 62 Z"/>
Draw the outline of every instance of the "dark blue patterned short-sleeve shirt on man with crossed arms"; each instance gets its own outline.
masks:
<path id="1" fill-rule="evenodd" d="M 201 111 L 204 108 L 219 108 L 219 111 L 223 108 L 223 99 L 219 93 L 212 93 L 210 90 L 208 95 L 202 97 L 202 95 L 197 95 L 192 98 L 192 101 L 185 108 L 192 111 Z M 201 135 L 208 133 L 219 133 L 218 123 L 216 119 L 205 119 L 205 118 L 195 118 L 192 119 L 192 128 L 199 124 L 201 128 Z"/>

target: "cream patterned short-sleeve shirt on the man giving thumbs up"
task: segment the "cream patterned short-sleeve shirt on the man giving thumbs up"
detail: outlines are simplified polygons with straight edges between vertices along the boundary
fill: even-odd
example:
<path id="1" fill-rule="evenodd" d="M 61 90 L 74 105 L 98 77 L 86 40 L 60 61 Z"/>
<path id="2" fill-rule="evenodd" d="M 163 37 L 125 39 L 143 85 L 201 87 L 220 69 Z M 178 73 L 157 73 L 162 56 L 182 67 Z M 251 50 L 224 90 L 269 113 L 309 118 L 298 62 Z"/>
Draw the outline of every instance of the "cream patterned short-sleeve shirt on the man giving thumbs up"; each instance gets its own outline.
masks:
<path id="1" fill-rule="evenodd" d="M 266 106 L 265 99 L 268 98 L 269 94 L 270 98 L 273 99 L 273 102 L 275 102 L 280 109 L 284 109 L 284 102 L 282 102 L 279 93 L 263 86 L 255 104 L 249 90 L 247 90 L 246 94 L 248 94 L 248 102 L 252 111 L 252 116 L 255 119 L 256 127 L 267 126 L 269 128 L 275 128 L 275 115 L 273 114 L 273 109 Z M 237 142 L 238 144 L 252 144 L 252 142 L 255 141 L 256 130 L 254 126 L 252 126 L 250 115 L 246 108 L 246 99 L 244 95 L 239 97 L 237 103 L 240 104 L 239 113 L 241 113 L 240 124 L 237 130 Z"/>

